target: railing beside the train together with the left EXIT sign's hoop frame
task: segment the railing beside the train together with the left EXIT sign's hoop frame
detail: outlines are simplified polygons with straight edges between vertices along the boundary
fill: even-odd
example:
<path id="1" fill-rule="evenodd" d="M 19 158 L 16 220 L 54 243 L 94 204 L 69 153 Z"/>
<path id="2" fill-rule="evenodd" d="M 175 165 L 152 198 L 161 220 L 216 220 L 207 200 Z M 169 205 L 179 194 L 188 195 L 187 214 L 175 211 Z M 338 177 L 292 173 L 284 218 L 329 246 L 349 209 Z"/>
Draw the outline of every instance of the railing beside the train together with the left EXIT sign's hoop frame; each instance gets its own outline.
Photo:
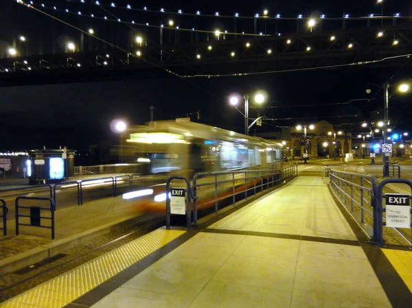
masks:
<path id="1" fill-rule="evenodd" d="M 198 224 L 198 211 L 214 206 L 214 212 L 218 213 L 222 208 L 222 202 L 230 202 L 233 206 L 240 200 L 247 200 L 249 196 L 278 185 L 282 185 L 297 176 L 297 165 L 286 167 L 282 170 L 247 170 L 247 171 L 222 171 L 195 174 L 192 188 L 187 191 L 193 200 L 193 222 L 187 222 L 187 226 Z M 166 187 L 166 221 L 170 222 L 170 181 L 177 178 L 169 178 Z M 179 178 L 185 180 L 185 178 Z M 190 209 L 190 208 L 188 208 Z M 191 215 L 192 211 L 186 214 Z M 190 219 L 189 216 L 187 219 Z"/>

